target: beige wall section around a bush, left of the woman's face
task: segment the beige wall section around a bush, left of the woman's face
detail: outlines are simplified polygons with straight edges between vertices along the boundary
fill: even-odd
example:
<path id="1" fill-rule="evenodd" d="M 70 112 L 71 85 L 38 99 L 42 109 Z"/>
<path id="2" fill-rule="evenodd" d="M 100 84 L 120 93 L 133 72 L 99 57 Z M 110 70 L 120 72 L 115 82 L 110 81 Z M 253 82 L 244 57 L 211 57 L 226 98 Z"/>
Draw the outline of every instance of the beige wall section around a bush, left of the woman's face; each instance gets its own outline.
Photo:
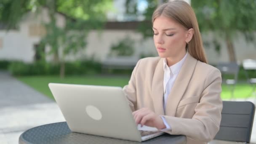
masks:
<path id="1" fill-rule="evenodd" d="M 143 40 L 141 34 L 132 30 L 104 30 L 101 33 L 93 31 L 88 35 L 88 45 L 84 53 L 95 55 L 97 59 L 104 61 L 113 44 L 117 44 L 125 37 L 131 37 L 134 40 L 135 56 L 139 57 L 140 53 L 155 53 L 155 46 L 152 38 Z"/>

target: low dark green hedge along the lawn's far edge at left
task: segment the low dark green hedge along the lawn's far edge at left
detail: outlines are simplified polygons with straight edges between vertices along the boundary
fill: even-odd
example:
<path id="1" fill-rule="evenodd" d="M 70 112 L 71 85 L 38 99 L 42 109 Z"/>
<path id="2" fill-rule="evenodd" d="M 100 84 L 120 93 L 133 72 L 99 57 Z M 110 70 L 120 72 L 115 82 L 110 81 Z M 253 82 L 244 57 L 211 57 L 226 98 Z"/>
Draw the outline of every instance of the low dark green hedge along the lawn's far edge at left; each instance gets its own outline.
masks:
<path id="1" fill-rule="evenodd" d="M 66 62 L 65 72 L 67 75 L 86 75 L 101 72 L 101 64 L 93 60 Z M 9 72 L 16 76 L 25 75 L 58 75 L 60 64 L 36 61 L 26 64 L 21 61 L 13 61 L 8 67 Z"/>

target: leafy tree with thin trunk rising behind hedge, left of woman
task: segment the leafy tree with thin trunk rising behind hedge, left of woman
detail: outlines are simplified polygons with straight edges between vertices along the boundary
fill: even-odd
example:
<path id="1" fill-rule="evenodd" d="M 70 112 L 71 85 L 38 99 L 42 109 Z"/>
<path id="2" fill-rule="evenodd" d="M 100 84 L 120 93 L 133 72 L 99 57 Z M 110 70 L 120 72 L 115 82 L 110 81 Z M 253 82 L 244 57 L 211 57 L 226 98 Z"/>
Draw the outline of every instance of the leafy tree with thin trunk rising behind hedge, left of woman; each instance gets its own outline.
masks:
<path id="1" fill-rule="evenodd" d="M 53 53 L 55 61 L 60 64 L 60 77 L 64 77 L 65 75 L 66 55 L 69 53 L 76 54 L 77 51 L 85 48 L 85 38 L 88 32 L 91 29 L 102 27 L 105 19 L 104 13 L 102 9 L 95 11 L 94 6 L 98 5 L 99 1 L 98 3 L 95 2 L 89 3 L 89 1 L 84 0 L 73 0 L 69 1 L 68 5 L 64 0 L 49 0 L 48 5 L 46 5 L 50 11 L 51 21 L 45 24 L 48 33 L 41 40 L 41 43 L 51 47 L 50 53 Z M 102 2 L 106 2 L 106 0 L 100 3 Z M 93 9 L 90 11 L 90 8 Z M 77 11 L 80 11 L 80 13 Z M 55 15 L 57 12 L 64 13 L 66 16 L 64 28 L 56 25 Z"/>

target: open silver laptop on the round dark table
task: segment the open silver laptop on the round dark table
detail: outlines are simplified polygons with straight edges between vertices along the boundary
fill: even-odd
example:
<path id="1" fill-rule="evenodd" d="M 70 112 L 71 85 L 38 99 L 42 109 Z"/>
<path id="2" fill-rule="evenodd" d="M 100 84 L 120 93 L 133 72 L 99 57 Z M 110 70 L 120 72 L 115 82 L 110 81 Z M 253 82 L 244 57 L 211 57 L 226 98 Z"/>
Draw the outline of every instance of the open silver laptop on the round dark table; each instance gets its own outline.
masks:
<path id="1" fill-rule="evenodd" d="M 136 125 L 121 87 L 49 83 L 72 132 L 145 141 L 164 132 Z"/>

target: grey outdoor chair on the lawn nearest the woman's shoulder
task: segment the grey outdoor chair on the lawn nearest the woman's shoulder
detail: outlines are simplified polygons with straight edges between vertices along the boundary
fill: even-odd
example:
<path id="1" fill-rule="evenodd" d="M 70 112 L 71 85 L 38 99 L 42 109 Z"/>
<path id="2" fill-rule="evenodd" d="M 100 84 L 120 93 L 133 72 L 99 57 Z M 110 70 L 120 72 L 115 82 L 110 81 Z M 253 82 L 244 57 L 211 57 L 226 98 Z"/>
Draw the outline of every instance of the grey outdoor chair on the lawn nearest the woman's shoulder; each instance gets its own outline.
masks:
<path id="1" fill-rule="evenodd" d="M 239 73 L 239 65 L 235 62 L 219 63 L 217 65 L 217 69 L 219 69 L 221 72 L 222 82 L 227 85 L 232 85 L 231 99 L 234 98 L 235 85 L 237 83 Z M 232 75 L 232 79 L 230 79 L 230 75 Z M 226 76 L 229 77 L 226 79 Z"/>

